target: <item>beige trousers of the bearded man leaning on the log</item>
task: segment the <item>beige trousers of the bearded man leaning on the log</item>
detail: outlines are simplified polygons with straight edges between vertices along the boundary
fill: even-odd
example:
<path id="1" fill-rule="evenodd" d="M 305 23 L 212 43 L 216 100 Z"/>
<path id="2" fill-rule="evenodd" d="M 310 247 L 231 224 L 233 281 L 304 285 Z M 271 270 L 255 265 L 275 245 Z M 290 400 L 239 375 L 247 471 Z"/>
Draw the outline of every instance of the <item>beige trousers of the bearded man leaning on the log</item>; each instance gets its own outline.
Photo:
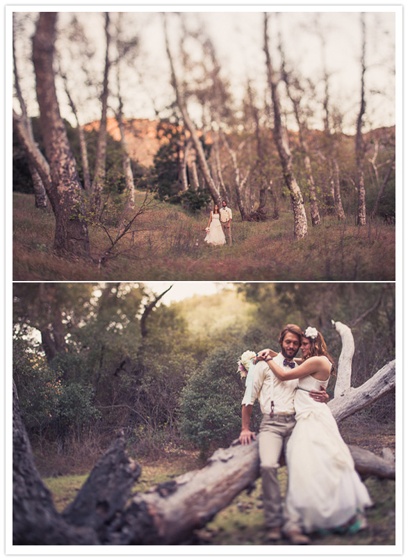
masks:
<path id="1" fill-rule="evenodd" d="M 288 533 L 300 529 L 298 520 L 290 519 L 286 507 L 282 506 L 281 492 L 277 477 L 281 451 L 295 427 L 295 415 L 263 415 L 259 429 L 259 458 L 263 491 L 263 513 L 268 529 L 282 527 Z"/>

